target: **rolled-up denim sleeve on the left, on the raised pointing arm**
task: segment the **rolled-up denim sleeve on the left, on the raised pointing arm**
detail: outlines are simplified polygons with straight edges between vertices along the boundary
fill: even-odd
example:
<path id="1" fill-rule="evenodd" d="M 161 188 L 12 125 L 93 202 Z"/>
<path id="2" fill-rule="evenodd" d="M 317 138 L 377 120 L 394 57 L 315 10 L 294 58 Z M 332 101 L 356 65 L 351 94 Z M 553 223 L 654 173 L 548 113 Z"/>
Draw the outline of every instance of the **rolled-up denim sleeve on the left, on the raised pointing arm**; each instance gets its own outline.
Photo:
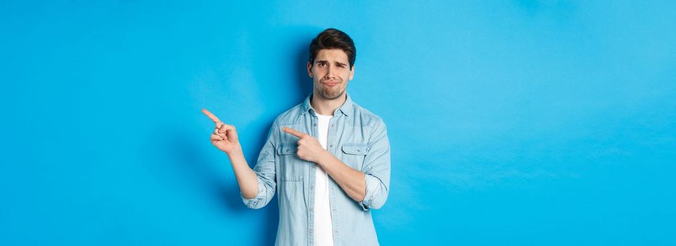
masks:
<path id="1" fill-rule="evenodd" d="M 260 150 L 256 166 L 253 167 L 253 171 L 256 173 L 258 179 L 258 195 L 256 195 L 255 198 L 248 199 L 240 193 L 242 202 L 250 209 L 260 209 L 265 207 L 265 205 L 267 205 L 274 197 L 274 192 L 277 187 L 274 169 L 274 144 L 272 141 L 275 131 L 273 130 L 274 124 L 268 133 L 265 145 L 263 145 L 263 148 Z"/>

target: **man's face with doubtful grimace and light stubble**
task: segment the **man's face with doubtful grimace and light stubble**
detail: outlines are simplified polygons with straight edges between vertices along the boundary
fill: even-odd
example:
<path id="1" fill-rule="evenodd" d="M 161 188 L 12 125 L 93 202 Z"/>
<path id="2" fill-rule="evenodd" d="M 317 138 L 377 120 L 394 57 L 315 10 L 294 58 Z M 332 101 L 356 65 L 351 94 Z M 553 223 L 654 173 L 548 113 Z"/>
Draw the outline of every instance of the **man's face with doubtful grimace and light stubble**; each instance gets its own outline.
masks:
<path id="1" fill-rule="evenodd" d="M 343 96 L 347 82 L 355 76 L 355 67 L 350 69 L 347 54 L 342 49 L 321 49 L 314 64 L 307 63 L 307 73 L 312 77 L 314 94 L 333 100 Z"/>

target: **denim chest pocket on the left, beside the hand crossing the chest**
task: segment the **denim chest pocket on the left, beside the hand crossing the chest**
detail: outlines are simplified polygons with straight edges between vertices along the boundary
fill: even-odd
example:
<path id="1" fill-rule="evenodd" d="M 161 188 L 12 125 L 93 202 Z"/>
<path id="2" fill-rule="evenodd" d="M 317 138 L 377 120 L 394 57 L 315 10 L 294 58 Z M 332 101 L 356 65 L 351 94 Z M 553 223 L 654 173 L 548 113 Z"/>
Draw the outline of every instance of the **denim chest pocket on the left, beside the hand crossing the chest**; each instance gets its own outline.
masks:
<path id="1" fill-rule="evenodd" d="M 280 181 L 302 181 L 302 169 L 309 162 L 298 157 L 298 144 L 282 143 L 276 149 L 279 160 L 277 176 Z"/>

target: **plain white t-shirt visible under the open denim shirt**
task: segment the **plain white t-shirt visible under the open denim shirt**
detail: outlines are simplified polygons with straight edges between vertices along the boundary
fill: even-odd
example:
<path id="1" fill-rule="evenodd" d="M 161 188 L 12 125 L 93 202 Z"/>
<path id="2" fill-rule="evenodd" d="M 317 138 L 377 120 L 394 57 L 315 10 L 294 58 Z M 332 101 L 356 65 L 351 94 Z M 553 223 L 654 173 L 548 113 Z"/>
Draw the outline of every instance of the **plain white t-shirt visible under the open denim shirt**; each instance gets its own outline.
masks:
<path id="1" fill-rule="evenodd" d="M 319 143 L 326 150 L 329 141 L 329 120 L 333 115 L 319 115 Z M 314 179 L 314 245 L 333 245 L 331 206 L 329 201 L 329 175 L 317 165 Z"/>

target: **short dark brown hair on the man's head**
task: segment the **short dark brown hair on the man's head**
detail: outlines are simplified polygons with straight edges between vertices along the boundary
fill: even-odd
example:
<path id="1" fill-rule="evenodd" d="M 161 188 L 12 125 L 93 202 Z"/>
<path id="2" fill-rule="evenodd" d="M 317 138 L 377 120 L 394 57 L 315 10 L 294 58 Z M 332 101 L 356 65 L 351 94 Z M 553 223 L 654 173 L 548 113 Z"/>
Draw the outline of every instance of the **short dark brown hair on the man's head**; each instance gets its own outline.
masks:
<path id="1" fill-rule="evenodd" d="M 350 36 L 335 28 L 329 28 L 317 34 L 317 37 L 310 42 L 310 64 L 314 66 L 314 58 L 317 57 L 319 50 L 324 48 L 340 48 L 347 54 L 347 60 L 350 62 L 350 69 L 355 65 L 357 59 L 357 48 L 355 42 Z"/>

